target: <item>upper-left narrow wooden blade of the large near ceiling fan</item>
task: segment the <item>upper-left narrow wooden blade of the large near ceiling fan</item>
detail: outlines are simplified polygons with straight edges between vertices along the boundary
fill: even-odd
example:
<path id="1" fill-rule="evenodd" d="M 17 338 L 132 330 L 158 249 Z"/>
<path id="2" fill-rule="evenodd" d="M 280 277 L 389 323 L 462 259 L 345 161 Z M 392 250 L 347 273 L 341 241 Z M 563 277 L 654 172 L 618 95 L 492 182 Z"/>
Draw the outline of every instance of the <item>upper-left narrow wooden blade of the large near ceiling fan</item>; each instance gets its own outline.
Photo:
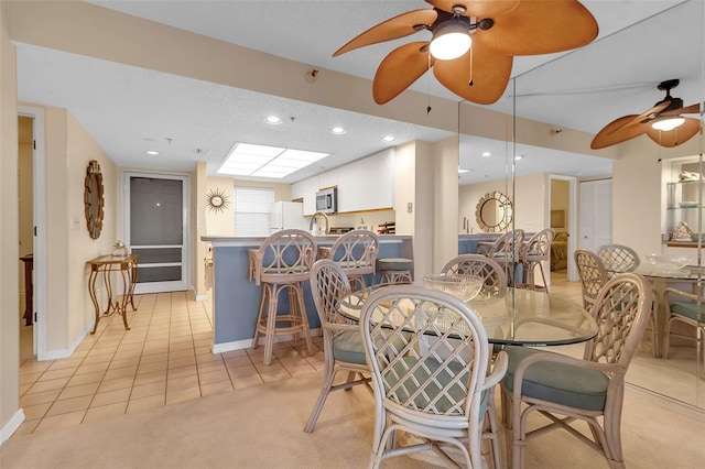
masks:
<path id="1" fill-rule="evenodd" d="M 425 24 L 430 26 L 437 17 L 438 13 L 432 9 L 414 10 L 402 13 L 357 35 L 343 47 L 338 48 L 333 56 L 335 57 L 366 45 L 408 36 L 420 31 L 414 29 L 415 25 Z"/>

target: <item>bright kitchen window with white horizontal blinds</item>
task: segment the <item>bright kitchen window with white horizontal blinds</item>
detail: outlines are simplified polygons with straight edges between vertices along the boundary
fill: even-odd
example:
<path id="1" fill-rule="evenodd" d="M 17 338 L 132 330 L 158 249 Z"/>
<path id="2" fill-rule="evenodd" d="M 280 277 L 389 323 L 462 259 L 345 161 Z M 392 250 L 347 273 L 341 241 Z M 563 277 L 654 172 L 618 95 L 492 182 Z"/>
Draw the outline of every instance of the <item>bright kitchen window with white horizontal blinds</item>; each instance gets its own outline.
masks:
<path id="1" fill-rule="evenodd" d="M 274 189 L 235 186 L 235 236 L 269 236 Z"/>

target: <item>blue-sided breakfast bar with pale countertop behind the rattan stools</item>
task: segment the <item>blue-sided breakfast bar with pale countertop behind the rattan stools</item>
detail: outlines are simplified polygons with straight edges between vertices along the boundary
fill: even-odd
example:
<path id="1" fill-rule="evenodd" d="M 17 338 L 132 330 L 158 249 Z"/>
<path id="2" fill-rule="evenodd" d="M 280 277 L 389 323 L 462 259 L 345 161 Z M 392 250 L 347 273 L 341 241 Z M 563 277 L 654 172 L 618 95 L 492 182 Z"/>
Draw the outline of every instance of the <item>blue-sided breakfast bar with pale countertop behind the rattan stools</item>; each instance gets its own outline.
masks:
<path id="1" fill-rule="evenodd" d="M 339 234 L 316 236 L 321 246 L 333 244 Z M 254 323 L 262 295 L 262 287 L 249 279 L 249 251 L 258 249 L 267 237 L 205 236 L 202 241 L 213 246 L 213 352 L 220 353 L 251 347 Z M 378 258 L 412 258 L 412 237 L 409 234 L 379 234 Z M 380 274 L 369 279 L 368 284 L 379 282 Z M 304 284 L 306 315 L 312 329 L 321 321 Z M 288 302 L 280 302 L 288 307 Z"/>

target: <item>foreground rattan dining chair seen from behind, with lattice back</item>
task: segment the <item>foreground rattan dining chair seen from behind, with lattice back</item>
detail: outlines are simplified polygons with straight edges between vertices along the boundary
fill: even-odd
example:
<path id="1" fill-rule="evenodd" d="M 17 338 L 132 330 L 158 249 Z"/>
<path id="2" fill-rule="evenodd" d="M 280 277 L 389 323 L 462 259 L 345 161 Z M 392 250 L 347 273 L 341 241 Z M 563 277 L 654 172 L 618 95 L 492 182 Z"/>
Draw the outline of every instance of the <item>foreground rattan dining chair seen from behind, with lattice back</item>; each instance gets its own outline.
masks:
<path id="1" fill-rule="evenodd" d="M 447 452 L 455 448 L 467 467 L 481 468 L 482 439 L 489 439 L 490 459 L 501 467 L 498 423 L 488 401 L 507 357 L 500 352 L 488 375 L 487 335 L 465 303 L 434 290 L 392 285 L 365 302 L 360 327 L 375 389 L 370 467 L 423 450 L 457 466 Z M 402 441 L 400 432 L 413 439 Z"/>

